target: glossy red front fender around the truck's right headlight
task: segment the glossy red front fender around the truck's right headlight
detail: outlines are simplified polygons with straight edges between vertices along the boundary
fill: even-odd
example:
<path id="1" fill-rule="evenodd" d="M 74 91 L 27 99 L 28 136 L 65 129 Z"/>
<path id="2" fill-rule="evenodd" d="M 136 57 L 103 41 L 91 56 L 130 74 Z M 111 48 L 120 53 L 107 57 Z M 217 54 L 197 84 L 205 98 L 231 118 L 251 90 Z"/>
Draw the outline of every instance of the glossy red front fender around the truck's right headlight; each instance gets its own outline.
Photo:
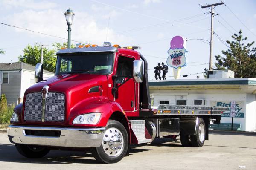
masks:
<path id="1" fill-rule="evenodd" d="M 97 124 L 72 124 L 76 116 L 91 112 L 101 112 L 101 118 Z M 70 109 L 68 120 L 71 126 L 105 127 L 113 112 L 123 112 L 120 104 L 115 101 L 102 96 L 86 98 Z"/>

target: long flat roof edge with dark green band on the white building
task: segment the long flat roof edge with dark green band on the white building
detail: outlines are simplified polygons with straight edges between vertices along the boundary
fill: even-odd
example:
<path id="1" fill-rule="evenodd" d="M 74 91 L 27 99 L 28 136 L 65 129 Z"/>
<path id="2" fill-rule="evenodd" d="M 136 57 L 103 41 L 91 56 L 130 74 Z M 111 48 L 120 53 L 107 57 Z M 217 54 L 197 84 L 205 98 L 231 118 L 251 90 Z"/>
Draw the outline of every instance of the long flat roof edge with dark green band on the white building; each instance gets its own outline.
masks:
<path id="1" fill-rule="evenodd" d="M 180 85 L 256 85 L 256 78 L 207 78 L 149 81 L 149 86 Z"/>

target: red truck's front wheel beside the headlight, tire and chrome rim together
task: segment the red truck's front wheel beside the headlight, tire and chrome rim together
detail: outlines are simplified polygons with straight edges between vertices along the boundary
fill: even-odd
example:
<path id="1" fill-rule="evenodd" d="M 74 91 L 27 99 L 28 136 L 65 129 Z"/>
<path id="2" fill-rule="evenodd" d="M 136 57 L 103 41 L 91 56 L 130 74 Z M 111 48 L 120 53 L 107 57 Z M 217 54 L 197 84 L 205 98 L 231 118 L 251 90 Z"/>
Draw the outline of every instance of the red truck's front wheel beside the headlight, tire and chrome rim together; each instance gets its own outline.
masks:
<path id="1" fill-rule="evenodd" d="M 101 146 L 93 148 L 92 152 L 99 162 L 116 163 L 125 156 L 128 145 L 125 127 L 119 121 L 109 120 Z"/>

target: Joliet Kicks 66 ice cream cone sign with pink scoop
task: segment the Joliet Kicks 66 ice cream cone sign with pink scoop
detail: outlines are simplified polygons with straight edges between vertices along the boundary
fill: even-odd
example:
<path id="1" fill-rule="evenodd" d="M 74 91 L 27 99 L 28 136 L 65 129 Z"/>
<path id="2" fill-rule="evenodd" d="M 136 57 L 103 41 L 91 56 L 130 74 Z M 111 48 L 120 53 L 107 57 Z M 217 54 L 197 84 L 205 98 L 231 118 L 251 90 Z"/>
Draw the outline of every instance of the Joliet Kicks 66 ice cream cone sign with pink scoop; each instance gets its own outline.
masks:
<path id="1" fill-rule="evenodd" d="M 167 65 L 173 68 L 173 75 L 175 79 L 180 78 L 181 67 L 186 66 L 186 40 L 183 37 L 175 36 L 170 43 L 170 49 L 168 50 Z"/>

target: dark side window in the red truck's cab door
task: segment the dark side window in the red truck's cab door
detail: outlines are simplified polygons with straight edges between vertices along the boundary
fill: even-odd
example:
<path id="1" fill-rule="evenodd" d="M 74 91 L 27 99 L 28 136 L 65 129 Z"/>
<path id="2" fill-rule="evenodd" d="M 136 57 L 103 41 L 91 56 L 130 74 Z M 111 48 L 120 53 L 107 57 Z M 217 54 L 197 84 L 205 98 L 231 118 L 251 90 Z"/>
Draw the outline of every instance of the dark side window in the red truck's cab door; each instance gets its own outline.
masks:
<path id="1" fill-rule="evenodd" d="M 134 58 L 119 56 L 116 69 L 117 76 L 123 76 L 116 79 L 116 83 L 122 83 L 125 78 L 132 76 Z"/>

